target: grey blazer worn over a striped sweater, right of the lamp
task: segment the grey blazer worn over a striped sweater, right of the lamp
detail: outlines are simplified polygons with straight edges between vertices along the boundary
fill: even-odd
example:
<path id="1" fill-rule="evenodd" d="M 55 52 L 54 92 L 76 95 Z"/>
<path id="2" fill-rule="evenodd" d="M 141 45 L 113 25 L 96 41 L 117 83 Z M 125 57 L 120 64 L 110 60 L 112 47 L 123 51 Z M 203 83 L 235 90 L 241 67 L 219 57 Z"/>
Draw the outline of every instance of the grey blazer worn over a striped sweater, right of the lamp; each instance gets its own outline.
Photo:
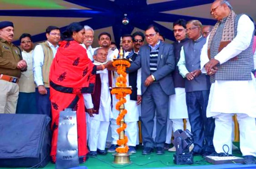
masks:
<path id="1" fill-rule="evenodd" d="M 136 71 L 141 68 L 141 93 L 144 94 L 147 87 L 144 85 L 146 78 L 150 75 L 150 47 L 149 45 L 141 46 L 139 55 L 131 63 L 127 73 Z M 171 72 L 175 69 L 175 59 L 173 45 L 160 42 L 159 53 L 157 58 L 157 70 L 153 73 L 156 81 L 160 83 L 161 88 L 167 95 L 175 94 L 174 83 Z"/>

